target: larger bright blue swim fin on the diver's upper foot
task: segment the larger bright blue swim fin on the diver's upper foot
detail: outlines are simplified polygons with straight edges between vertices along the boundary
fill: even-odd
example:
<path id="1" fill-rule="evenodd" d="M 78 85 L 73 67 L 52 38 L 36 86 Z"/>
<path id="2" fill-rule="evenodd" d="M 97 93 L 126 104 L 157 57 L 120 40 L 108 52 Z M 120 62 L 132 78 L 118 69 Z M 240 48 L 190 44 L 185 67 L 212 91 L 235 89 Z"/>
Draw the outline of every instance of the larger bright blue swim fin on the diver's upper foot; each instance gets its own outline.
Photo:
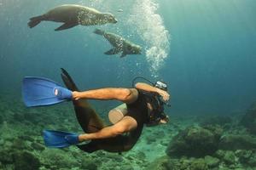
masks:
<path id="1" fill-rule="evenodd" d="M 24 77 L 23 100 L 28 107 L 54 105 L 72 99 L 72 92 L 44 77 Z"/>

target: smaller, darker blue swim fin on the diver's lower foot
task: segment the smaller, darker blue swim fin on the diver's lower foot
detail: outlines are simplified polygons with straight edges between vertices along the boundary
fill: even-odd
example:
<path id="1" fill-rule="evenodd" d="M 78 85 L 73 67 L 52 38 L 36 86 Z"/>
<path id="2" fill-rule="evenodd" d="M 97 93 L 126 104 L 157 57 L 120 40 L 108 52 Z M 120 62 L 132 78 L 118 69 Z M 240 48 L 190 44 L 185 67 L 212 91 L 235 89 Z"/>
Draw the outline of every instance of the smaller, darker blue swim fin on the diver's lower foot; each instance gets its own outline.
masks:
<path id="1" fill-rule="evenodd" d="M 65 148 L 72 144 L 79 144 L 77 133 L 67 133 L 55 130 L 44 130 L 44 143 L 51 148 Z"/>

